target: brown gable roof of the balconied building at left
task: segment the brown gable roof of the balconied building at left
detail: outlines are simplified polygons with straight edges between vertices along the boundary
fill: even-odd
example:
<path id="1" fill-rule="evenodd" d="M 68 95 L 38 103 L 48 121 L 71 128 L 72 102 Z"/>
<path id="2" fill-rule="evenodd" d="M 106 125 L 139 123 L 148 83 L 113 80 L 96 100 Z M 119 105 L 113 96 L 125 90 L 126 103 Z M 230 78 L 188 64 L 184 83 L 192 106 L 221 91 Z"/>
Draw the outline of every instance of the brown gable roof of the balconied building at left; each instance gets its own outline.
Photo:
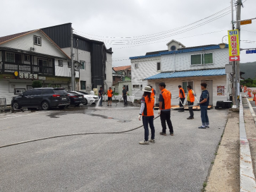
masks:
<path id="1" fill-rule="evenodd" d="M 59 49 L 59 51 L 61 51 L 66 57 L 68 57 L 68 59 L 71 59 L 64 51 L 62 51 L 61 48 L 59 48 L 59 46 L 58 46 L 56 43 L 54 43 L 53 40 L 50 39 L 50 37 L 48 37 L 48 35 L 46 35 L 46 33 L 44 33 L 44 32 L 43 32 L 42 30 L 40 30 L 40 29 L 31 30 L 31 31 L 28 31 L 28 32 L 21 32 L 21 33 L 16 33 L 16 34 L 13 34 L 13 35 L 8 35 L 8 36 L 0 37 L 0 45 L 1 45 L 1 44 L 4 44 L 4 43 L 6 43 L 6 42 L 9 42 L 9 41 L 11 41 L 11 40 L 18 39 L 18 38 L 23 37 L 23 36 L 25 36 L 25 35 L 28 35 L 28 34 L 30 34 L 30 33 L 34 33 L 34 32 L 41 32 L 41 33 L 43 33 L 43 35 L 44 35 L 47 39 L 49 39 L 49 40 L 52 42 L 52 44 L 54 44 L 54 45 L 57 47 L 57 49 Z"/>

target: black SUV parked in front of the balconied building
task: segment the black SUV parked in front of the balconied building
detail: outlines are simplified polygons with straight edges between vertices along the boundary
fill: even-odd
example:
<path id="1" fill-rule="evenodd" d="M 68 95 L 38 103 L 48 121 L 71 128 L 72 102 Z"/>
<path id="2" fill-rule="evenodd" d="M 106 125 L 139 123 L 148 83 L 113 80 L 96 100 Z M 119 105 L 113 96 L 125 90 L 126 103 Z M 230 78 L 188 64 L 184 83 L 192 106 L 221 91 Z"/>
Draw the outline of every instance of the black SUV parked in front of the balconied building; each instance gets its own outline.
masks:
<path id="1" fill-rule="evenodd" d="M 64 108 L 68 105 L 70 97 L 64 88 L 33 88 L 11 100 L 13 109 L 41 107 L 42 110 L 48 110 L 51 107 Z"/>

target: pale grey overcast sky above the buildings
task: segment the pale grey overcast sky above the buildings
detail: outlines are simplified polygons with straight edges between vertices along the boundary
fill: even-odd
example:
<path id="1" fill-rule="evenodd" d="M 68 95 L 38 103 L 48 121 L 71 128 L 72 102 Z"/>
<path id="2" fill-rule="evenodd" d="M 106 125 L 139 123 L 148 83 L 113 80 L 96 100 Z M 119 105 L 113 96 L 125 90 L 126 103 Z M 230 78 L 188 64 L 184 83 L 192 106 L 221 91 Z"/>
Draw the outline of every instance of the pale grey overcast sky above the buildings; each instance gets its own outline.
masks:
<path id="1" fill-rule="evenodd" d="M 245 3 L 241 9 L 241 19 L 255 18 L 256 1 L 243 2 Z M 0 37 L 72 23 L 78 35 L 102 40 L 107 48 L 113 48 L 113 66 L 129 65 L 128 58 L 132 56 L 166 50 L 166 44 L 172 39 L 178 40 L 186 47 L 219 44 L 222 37 L 228 34 L 227 30 L 231 30 L 231 13 L 228 14 L 230 9 L 217 13 L 228 8 L 230 0 L 1 0 L 0 4 L 3 17 Z M 214 15 L 215 13 L 217 14 Z M 214 16 L 207 18 L 210 15 Z M 217 19 L 216 16 L 222 17 Z M 204 18 L 207 19 L 202 20 Z M 214 18 L 216 20 L 199 26 Z M 194 23 L 198 20 L 202 21 Z M 190 23 L 194 24 L 171 31 Z M 255 41 L 242 41 L 241 48 L 256 47 L 255 23 L 256 20 L 253 20 L 252 24 L 241 26 L 241 40 Z M 204 33 L 208 34 L 200 35 Z M 120 43 L 123 45 L 117 45 Z M 116 61 L 119 59 L 126 60 Z M 256 61 L 256 54 L 245 54 L 245 51 L 241 51 L 242 63 L 253 61 Z"/>

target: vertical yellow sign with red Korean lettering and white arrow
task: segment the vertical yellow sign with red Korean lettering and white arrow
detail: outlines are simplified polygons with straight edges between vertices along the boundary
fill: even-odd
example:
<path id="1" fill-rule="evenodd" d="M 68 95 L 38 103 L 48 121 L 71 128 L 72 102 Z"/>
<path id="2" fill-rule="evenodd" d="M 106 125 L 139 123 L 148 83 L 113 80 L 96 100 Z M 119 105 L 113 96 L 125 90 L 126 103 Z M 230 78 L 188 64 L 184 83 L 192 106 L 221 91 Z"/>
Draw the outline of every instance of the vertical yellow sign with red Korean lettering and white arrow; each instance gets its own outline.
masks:
<path id="1" fill-rule="evenodd" d="M 238 30 L 228 31 L 229 61 L 240 61 L 240 48 Z"/>

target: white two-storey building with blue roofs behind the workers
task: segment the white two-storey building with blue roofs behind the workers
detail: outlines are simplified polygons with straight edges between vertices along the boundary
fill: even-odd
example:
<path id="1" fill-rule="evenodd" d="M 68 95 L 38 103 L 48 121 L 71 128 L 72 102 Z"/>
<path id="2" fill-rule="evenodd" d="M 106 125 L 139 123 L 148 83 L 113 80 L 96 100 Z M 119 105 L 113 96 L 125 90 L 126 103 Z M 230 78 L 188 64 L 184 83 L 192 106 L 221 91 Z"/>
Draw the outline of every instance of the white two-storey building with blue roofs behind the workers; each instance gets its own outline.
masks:
<path id="1" fill-rule="evenodd" d="M 229 77 L 225 73 L 225 65 L 229 64 L 228 45 L 220 49 L 219 45 L 202 45 L 185 47 L 180 42 L 172 40 L 168 50 L 148 52 L 145 56 L 130 57 L 131 83 L 133 95 L 139 99 L 142 96 L 140 88 L 152 85 L 159 95 L 158 85 L 166 83 L 166 88 L 173 96 L 172 104 L 178 104 L 178 85 L 185 93 L 186 86 L 200 97 L 200 83 L 207 83 L 210 93 L 210 105 L 216 105 L 217 100 L 229 100 Z M 195 101 L 197 102 L 197 100 Z"/>

